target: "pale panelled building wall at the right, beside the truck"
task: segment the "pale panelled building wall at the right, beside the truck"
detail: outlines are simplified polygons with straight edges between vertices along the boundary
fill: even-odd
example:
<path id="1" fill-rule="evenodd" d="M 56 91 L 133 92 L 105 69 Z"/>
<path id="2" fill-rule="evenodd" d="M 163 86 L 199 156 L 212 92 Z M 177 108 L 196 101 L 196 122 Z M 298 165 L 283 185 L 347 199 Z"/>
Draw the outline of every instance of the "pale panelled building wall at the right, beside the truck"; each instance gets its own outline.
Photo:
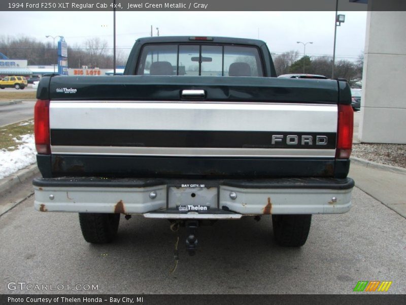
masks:
<path id="1" fill-rule="evenodd" d="M 369 0 L 358 137 L 406 144 L 406 12 L 373 10 Z"/>

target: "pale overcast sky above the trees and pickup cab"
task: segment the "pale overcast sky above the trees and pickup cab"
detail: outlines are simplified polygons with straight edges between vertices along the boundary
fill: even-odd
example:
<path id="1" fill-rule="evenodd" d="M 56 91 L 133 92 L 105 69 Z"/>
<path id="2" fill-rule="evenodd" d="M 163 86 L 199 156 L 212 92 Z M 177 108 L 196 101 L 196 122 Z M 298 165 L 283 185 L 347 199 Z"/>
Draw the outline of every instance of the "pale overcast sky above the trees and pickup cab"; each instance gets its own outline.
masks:
<path id="1" fill-rule="evenodd" d="M 337 27 L 336 60 L 356 60 L 365 46 L 366 12 L 341 12 Z M 335 12 L 117 12 L 117 50 L 129 53 L 137 38 L 150 36 L 226 36 L 261 39 L 271 52 L 297 50 L 306 55 L 333 53 Z M 9 26 L 23 24 L 24 26 Z M 69 46 L 99 37 L 113 47 L 112 12 L 2 12 L 0 36 L 29 36 L 52 42 L 46 35 L 63 36 Z"/>

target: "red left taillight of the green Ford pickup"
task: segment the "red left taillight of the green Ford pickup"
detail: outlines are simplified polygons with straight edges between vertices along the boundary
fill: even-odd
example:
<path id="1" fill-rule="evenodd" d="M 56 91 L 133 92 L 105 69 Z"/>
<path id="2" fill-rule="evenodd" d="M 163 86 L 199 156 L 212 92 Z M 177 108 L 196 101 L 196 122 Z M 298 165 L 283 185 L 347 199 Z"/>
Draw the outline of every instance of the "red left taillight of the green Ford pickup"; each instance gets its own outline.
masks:
<path id="1" fill-rule="evenodd" d="M 38 154 L 51 154 L 49 137 L 49 101 L 38 100 L 34 108 L 35 146 Z"/>

